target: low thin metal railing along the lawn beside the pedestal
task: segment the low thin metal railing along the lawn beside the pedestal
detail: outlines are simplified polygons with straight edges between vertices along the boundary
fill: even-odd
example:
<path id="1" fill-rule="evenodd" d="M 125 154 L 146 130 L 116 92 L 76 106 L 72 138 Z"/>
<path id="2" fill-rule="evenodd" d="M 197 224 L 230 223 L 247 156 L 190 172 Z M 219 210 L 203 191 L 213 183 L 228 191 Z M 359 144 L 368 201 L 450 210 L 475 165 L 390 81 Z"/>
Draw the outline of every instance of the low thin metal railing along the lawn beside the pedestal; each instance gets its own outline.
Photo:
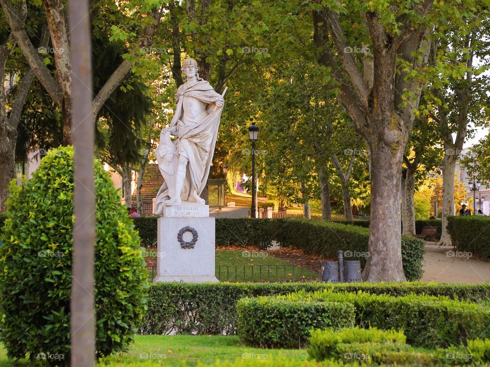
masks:
<path id="1" fill-rule="evenodd" d="M 155 267 L 146 267 L 148 276 L 157 276 Z M 215 276 L 219 281 L 232 283 L 284 283 L 318 282 L 322 280 L 321 266 L 312 271 L 295 265 L 216 265 Z"/>

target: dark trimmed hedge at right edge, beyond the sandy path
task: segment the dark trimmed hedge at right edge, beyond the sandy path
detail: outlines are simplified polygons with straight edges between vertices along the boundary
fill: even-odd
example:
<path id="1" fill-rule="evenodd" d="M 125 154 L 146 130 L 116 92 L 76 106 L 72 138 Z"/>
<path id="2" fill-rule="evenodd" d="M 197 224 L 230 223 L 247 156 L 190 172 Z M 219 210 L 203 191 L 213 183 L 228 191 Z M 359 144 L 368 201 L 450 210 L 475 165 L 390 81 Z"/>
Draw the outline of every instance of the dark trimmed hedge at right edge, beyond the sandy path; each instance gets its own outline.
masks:
<path id="1" fill-rule="evenodd" d="M 447 228 L 457 250 L 485 260 L 490 258 L 490 217 L 448 217 Z"/>

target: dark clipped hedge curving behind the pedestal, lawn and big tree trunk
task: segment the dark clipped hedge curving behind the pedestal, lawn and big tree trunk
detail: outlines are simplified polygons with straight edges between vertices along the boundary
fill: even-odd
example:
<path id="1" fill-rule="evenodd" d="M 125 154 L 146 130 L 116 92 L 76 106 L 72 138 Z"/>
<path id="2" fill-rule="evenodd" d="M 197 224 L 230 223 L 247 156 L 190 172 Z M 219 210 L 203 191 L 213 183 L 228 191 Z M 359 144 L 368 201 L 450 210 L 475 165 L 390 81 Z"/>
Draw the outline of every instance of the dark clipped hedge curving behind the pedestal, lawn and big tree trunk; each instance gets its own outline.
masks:
<path id="1" fill-rule="evenodd" d="M 144 247 L 156 247 L 157 217 L 135 218 Z M 257 246 L 267 249 L 277 241 L 307 253 L 335 258 L 338 250 L 348 260 L 366 261 L 369 229 L 355 225 L 309 219 L 216 218 L 216 246 Z M 422 278 L 425 242 L 402 236 L 403 270 L 408 281 Z"/>

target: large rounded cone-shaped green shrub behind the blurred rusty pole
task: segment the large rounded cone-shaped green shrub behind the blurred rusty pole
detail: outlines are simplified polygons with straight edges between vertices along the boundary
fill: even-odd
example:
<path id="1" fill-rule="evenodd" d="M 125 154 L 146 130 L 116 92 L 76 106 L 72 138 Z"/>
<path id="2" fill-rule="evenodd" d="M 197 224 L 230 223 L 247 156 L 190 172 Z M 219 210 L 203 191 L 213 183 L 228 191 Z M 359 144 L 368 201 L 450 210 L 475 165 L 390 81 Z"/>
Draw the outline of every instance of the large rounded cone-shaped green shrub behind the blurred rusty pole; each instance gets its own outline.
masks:
<path id="1" fill-rule="evenodd" d="M 11 183 L 0 241 L 0 340 L 9 357 L 70 359 L 73 149 L 42 159 L 22 187 Z M 95 161 L 97 355 L 124 350 L 144 311 L 144 260 L 133 221 Z"/>

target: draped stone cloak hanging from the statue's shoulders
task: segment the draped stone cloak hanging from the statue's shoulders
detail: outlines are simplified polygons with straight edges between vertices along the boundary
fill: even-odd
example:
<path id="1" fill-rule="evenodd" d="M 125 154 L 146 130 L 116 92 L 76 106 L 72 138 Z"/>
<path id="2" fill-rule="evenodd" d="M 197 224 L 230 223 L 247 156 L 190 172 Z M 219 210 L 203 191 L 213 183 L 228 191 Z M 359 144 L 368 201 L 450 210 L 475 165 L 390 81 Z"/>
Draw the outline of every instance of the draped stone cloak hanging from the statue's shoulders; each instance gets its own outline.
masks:
<path id="1" fill-rule="evenodd" d="M 208 115 L 202 121 L 198 123 L 183 122 L 184 109 L 182 105 L 184 96 L 193 97 L 208 104 Z M 174 143 L 160 141 L 160 144 L 177 144 L 177 153 L 180 152 L 189 158 L 181 192 L 181 200 L 188 201 L 192 186 L 197 188 L 198 195 L 201 195 L 206 187 L 218 135 L 219 121 L 223 112 L 223 107 L 217 107 L 215 102 L 222 97 L 214 91 L 208 82 L 200 81 L 191 87 L 186 87 L 185 84 L 181 85 L 175 98 L 177 100 L 177 108 L 170 122 L 170 130 L 176 127 L 179 139 Z M 175 168 L 177 168 L 177 156 L 174 158 L 174 162 Z M 162 169 L 160 168 L 160 170 Z M 168 187 L 166 183 L 163 183 L 155 199 L 155 214 L 163 213 L 164 202 L 169 198 Z"/>

